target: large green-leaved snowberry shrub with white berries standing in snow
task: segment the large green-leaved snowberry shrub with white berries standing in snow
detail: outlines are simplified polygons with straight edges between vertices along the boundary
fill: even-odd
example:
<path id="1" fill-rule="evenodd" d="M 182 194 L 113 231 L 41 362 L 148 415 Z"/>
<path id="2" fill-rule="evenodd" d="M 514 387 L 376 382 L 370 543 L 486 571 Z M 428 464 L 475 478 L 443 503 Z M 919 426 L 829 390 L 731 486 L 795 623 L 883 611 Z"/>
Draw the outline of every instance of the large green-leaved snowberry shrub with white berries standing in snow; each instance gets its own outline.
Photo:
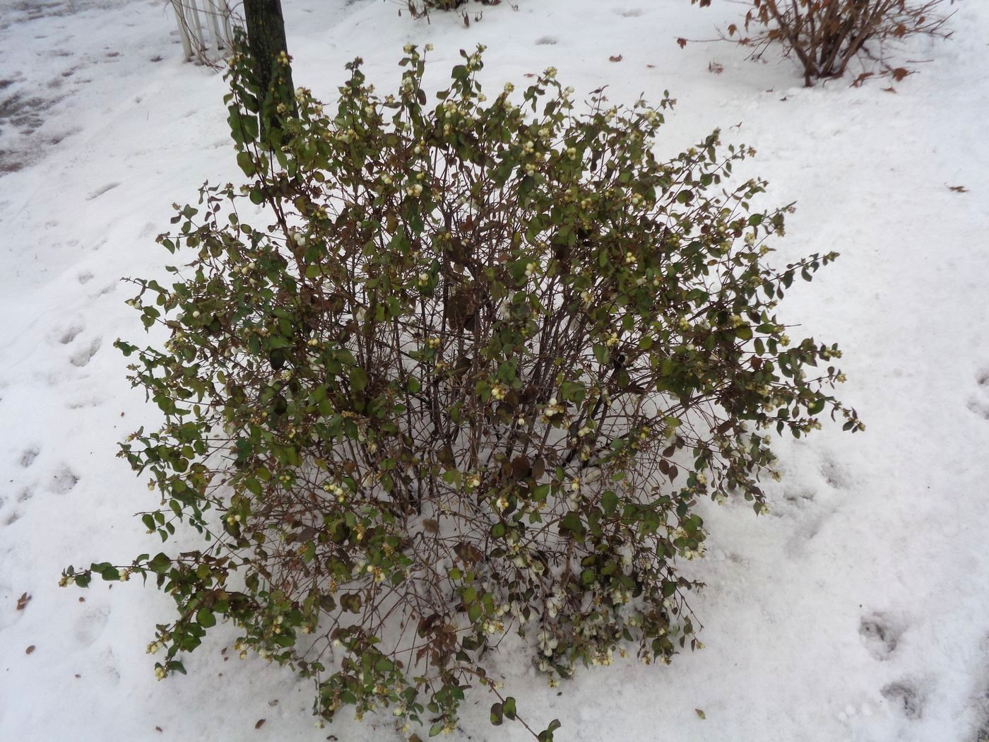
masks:
<path id="1" fill-rule="evenodd" d="M 776 317 L 835 255 L 765 264 L 783 212 L 728 177 L 751 150 L 715 132 L 661 161 L 669 97 L 576 106 L 553 68 L 490 100 L 482 50 L 434 106 L 416 47 L 383 99 L 357 59 L 335 114 L 300 89 L 273 149 L 234 58 L 248 182 L 178 210 L 174 284 L 135 281 L 168 339 L 118 341 L 164 416 L 123 445 L 162 498 L 141 517 L 206 543 L 63 578 L 156 576 L 178 607 L 160 676 L 226 620 L 241 657 L 315 681 L 324 719 L 438 734 L 479 686 L 515 719 L 490 673 L 506 635 L 551 683 L 668 663 L 696 645 L 676 571 L 703 553 L 696 503 L 759 511 L 772 433 L 861 427 L 827 391 L 838 348 Z"/>

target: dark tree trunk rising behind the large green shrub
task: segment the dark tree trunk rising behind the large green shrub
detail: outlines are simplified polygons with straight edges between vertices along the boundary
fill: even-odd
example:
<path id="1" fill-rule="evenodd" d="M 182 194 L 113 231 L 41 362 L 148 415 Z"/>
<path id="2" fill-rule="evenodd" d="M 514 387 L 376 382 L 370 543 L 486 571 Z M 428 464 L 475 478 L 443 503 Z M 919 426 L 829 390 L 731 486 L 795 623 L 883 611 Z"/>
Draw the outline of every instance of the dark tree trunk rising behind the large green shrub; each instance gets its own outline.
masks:
<path id="1" fill-rule="evenodd" d="M 281 0 L 244 0 L 243 8 L 247 22 L 247 47 L 254 58 L 259 92 L 262 99 L 270 100 L 275 107 L 271 120 L 277 127 L 284 116 L 291 116 L 296 111 L 296 88 L 287 58 L 289 49 L 285 41 L 282 3 Z M 279 103 L 285 104 L 282 111 L 277 109 Z M 262 116 L 262 125 L 263 122 Z"/>

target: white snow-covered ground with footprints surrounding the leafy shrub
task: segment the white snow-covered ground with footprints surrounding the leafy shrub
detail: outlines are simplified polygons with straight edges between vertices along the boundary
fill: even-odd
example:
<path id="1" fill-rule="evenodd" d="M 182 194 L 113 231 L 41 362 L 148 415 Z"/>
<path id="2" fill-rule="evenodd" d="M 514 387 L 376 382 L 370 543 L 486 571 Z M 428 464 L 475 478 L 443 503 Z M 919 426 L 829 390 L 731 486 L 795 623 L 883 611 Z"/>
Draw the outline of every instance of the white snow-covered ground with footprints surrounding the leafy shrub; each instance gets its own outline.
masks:
<path id="1" fill-rule="evenodd" d="M 407 42 L 436 46 L 437 84 L 484 43 L 498 87 L 552 64 L 616 102 L 670 89 L 662 146 L 722 127 L 759 150 L 766 206 L 797 201 L 780 261 L 843 255 L 782 316 L 842 343 L 868 429 L 784 441 L 767 516 L 705 509 L 706 649 L 555 690 L 518 655 L 499 669 L 531 723 L 564 722 L 558 740 L 989 738 L 989 3 L 956 3 L 951 41 L 905 48 L 933 61 L 895 92 L 803 89 L 788 63 L 677 46 L 740 11 L 714 5 L 517 0 L 464 28 L 385 0 L 284 0 L 296 82 L 327 103 L 356 55 L 394 85 Z M 56 587 L 69 563 L 154 550 L 132 517 L 153 496 L 115 458 L 152 419 L 112 347 L 142 336 L 119 279 L 160 271 L 172 202 L 238 175 L 224 83 L 182 63 L 173 32 L 160 0 L 0 0 L 0 740 L 399 740 L 388 719 L 315 729 L 308 684 L 219 642 L 156 683 L 144 646 L 169 599 Z M 460 738 L 525 739 L 469 697 Z"/>

